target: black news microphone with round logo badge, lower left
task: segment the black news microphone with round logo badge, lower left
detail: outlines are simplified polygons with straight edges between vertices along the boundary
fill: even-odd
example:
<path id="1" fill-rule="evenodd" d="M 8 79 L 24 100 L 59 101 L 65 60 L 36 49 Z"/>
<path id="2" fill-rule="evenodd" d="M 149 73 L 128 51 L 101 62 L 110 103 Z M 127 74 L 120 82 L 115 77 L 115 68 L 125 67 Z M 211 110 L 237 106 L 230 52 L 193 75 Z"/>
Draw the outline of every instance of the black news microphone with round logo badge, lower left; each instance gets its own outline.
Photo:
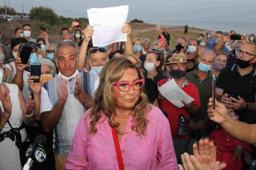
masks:
<path id="1" fill-rule="evenodd" d="M 28 146 L 26 151 L 26 158 L 28 158 L 28 160 L 22 170 L 31 170 L 35 163 L 45 163 L 48 153 L 48 150 L 44 149 L 45 142 L 46 137 L 42 134 L 38 134 L 35 143 Z"/>

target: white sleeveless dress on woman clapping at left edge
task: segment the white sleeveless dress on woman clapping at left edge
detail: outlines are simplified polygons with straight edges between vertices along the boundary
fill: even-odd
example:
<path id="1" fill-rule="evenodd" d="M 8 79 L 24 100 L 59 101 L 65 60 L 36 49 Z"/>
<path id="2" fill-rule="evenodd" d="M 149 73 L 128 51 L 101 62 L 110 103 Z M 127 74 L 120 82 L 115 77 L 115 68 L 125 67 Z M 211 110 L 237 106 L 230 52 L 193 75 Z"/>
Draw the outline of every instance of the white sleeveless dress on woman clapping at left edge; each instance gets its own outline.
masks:
<path id="1" fill-rule="evenodd" d="M 19 128 L 22 124 L 22 110 L 20 107 L 20 102 L 18 98 L 18 86 L 16 84 L 5 83 L 8 89 L 10 90 L 11 97 L 11 116 L 9 121 L 13 128 Z M 1 132 L 9 131 L 11 127 L 6 122 Z M 26 130 L 23 128 L 20 130 L 21 140 L 24 140 L 27 137 Z M 19 149 L 15 145 L 15 141 L 11 141 L 10 138 L 7 138 L 0 142 L 0 169 L 4 170 L 20 170 L 22 169 L 20 163 Z"/>

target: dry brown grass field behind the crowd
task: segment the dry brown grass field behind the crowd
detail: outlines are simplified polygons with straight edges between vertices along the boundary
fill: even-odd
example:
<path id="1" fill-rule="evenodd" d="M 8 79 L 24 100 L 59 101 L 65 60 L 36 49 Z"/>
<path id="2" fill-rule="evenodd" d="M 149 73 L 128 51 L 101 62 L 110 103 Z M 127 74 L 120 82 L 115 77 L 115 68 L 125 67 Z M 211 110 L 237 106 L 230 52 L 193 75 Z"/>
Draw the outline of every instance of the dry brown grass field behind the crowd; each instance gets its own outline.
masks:
<path id="1" fill-rule="evenodd" d="M 9 44 L 10 43 L 10 38 L 13 38 L 13 31 L 15 28 L 21 28 L 24 23 L 30 23 L 32 25 L 32 36 L 37 37 L 39 35 L 39 27 L 40 23 L 37 23 L 33 20 L 31 21 L 15 21 L 12 24 L 12 28 L 8 28 L 8 24 L 4 23 L 0 25 L 0 31 L 2 33 L 2 39 L 0 39 L 0 42 L 3 44 Z M 80 23 L 83 28 L 87 26 L 87 22 Z M 132 27 L 132 33 L 131 33 L 131 38 L 140 38 L 140 39 L 145 39 L 148 38 L 151 43 L 154 43 L 155 39 L 157 39 L 157 33 L 156 33 L 156 25 L 154 24 L 148 24 L 148 23 L 130 23 Z M 63 27 L 69 28 L 71 23 L 63 24 L 61 26 L 51 26 L 47 25 L 46 27 L 46 32 L 48 33 L 49 36 L 49 42 L 54 43 L 56 41 L 61 40 L 60 37 L 60 30 Z M 161 26 L 163 29 L 165 26 Z M 168 32 L 171 34 L 171 49 L 174 49 L 174 44 L 175 40 L 177 37 L 184 37 L 187 40 L 191 38 L 198 38 L 198 35 L 200 33 L 206 34 L 209 30 L 203 30 L 199 28 L 189 28 L 188 34 L 184 35 L 184 26 L 166 26 L 168 28 Z M 73 30 L 74 31 L 74 30 Z M 212 31 L 209 31 L 212 32 Z M 213 32 L 212 32 L 213 33 Z"/>

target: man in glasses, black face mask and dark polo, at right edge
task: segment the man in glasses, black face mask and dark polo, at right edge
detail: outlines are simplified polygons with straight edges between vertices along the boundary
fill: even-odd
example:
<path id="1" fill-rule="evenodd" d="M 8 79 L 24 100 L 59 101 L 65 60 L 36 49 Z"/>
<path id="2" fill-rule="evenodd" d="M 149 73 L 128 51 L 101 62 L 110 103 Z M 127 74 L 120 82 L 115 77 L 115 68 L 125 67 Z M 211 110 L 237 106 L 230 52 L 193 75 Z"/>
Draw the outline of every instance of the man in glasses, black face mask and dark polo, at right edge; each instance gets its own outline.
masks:
<path id="1" fill-rule="evenodd" d="M 216 94 L 229 111 L 239 114 L 239 120 L 256 123 L 256 45 L 243 44 L 238 50 L 236 64 L 220 72 Z"/>

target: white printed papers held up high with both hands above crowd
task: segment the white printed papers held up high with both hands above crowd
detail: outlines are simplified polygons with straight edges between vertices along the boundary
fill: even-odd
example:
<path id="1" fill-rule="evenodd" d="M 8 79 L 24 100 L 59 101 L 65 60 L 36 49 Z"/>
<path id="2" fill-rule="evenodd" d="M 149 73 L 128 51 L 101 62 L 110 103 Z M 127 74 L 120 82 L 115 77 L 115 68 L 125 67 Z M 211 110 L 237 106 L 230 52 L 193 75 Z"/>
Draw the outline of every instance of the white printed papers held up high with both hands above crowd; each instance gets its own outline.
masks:
<path id="1" fill-rule="evenodd" d="M 90 26 L 94 26 L 93 47 L 127 41 L 122 26 L 127 20 L 129 6 L 91 8 L 87 10 Z"/>

